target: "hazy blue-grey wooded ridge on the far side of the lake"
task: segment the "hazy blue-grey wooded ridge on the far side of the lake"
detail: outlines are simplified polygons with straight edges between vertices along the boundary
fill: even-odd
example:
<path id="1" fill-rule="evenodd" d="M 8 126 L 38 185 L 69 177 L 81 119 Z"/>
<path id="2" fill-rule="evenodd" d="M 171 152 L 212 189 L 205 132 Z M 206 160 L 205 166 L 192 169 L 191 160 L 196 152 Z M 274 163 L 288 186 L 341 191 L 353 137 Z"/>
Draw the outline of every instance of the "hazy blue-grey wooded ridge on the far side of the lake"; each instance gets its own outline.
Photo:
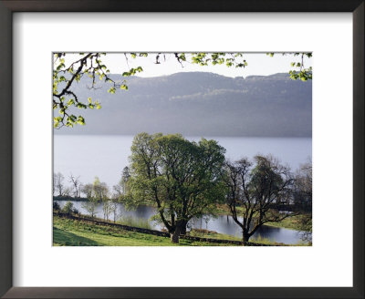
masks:
<path id="1" fill-rule="evenodd" d="M 125 77 L 111 75 L 115 80 Z M 75 110 L 86 126 L 56 134 L 182 133 L 185 136 L 311 137 L 312 83 L 270 76 L 224 77 L 181 72 L 127 78 L 129 90 L 107 92 L 107 84 L 74 88 L 79 98 L 99 99 L 100 110 Z"/>

